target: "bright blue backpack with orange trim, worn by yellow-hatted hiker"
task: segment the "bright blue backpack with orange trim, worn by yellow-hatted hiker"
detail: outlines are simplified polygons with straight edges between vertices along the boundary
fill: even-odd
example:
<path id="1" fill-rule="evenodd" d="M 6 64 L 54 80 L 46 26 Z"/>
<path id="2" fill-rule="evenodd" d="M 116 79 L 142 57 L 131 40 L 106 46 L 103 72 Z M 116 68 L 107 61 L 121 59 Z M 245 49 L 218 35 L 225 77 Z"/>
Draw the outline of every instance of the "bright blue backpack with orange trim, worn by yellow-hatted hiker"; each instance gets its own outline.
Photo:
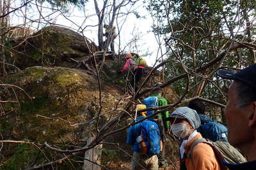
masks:
<path id="1" fill-rule="evenodd" d="M 163 150 L 159 127 L 150 120 L 141 122 L 141 135 L 136 140 L 141 153 L 157 155 Z"/>

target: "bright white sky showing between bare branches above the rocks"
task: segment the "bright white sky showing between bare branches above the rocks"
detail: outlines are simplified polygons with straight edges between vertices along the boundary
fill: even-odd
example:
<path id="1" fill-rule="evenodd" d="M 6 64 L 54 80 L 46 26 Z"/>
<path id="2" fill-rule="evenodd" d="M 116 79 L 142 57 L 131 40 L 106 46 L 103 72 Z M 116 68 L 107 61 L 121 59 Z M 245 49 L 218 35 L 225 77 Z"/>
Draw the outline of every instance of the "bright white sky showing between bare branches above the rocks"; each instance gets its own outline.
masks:
<path id="1" fill-rule="evenodd" d="M 101 0 L 99 0 L 102 3 Z M 17 6 L 20 4 L 17 3 Z M 49 4 L 44 4 L 44 6 L 49 6 Z M 154 62 L 157 57 L 157 49 L 159 45 L 157 44 L 156 38 L 154 36 L 154 33 L 151 32 L 151 25 L 152 25 L 152 18 L 148 15 L 148 11 L 143 8 L 142 1 L 139 1 L 136 3 L 133 8 L 136 8 L 137 11 L 140 12 L 140 15 L 145 16 L 145 19 L 138 19 L 135 15 L 130 14 L 128 15 L 127 19 L 124 22 L 124 25 L 122 27 L 122 30 L 120 32 L 120 42 L 121 42 L 121 49 L 124 49 L 126 46 L 124 52 L 138 52 L 134 48 L 130 48 L 127 46 L 127 44 L 131 41 L 132 38 L 134 38 L 134 35 L 136 35 L 139 40 L 137 42 L 137 50 L 139 50 L 139 55 L 145 55 L 146 53 L 150 53 L 145 59 L 147 60 L 147 63 L 149 66 L 153 66 Z M 74 6 L 69 7 L 69 13 L 70 15 L 60 15 L 60 13 L 54 13 L 51 15 L 51 22 L 54 22 L 55 24 L 60 24 L 65 27 L 73 28 L 74 30 L 77 30 L 77 25 L 84 27 L 85 25 L 97 25 L 98 18 L 95 13 L 94 3 L 92 0 L 89 0 L 88 3 L 84 6 L 85 11 L 80 11 L 77 8 L 74 8 Z M 24 8 L 22 8 L 24 11 Z M 35 4 L 31 4 L 29 7 L 30 12 L 29 17 L 36 19 L 39 17 L 39 13 Z M 124 9 L 125 10 L 125 9 Z M 47 8 L 43 8 L 42 14 L 44 15 L 44 18 L 47 18 L 46 16 L 51 13 L 51 10 L 48 10 Z M 124 11 L 125 12 L 125 11 Z M 18 16 L 21 17 L 18 17 Z M 24 23 L 24 17 L 22 18 L 22 13 L 17 13 L 17 15 L 12 17 L 12 25 L 19 25 Z M 42 18 L 42 17 L 41 17 Z M 26 20 L 26 22 L 29 22 L 29 20 Z M 122 20 L 118 21 L 119 25 L 122 24 Z M 31 24 L 31 23 L 30 23 Z M 46 23 L 42 23 L 40 27 L 44 27 Z M 38 23 L 35 22 L 31 24 L 33 26 L 33 29 L 36 29 L 38 27 Z M 90 38 L 92 41 L 97 43 L 97 29 L 98 27 L 86 27 L 84 30 L 84 36 L 86 38 Z M 118 47 L 118 38 L 115 39 L 115 50 L 117 50 Z"/>

